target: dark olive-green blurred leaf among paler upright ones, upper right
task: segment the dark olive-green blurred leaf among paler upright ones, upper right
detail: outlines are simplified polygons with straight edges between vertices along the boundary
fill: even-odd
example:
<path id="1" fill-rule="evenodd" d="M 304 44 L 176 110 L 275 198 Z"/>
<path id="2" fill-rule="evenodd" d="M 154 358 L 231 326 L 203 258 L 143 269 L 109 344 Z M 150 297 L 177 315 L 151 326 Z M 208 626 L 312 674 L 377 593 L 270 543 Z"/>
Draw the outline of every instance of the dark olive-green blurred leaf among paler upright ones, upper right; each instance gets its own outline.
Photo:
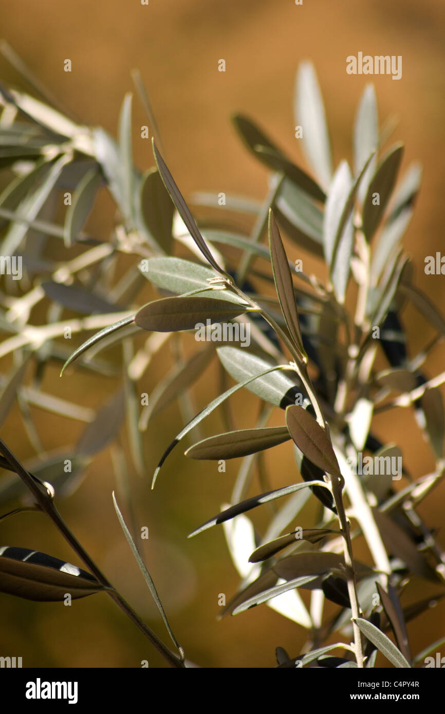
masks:
<path id="1" fill-rule="evenodd" d="M 363 231 L 368 241 L 374 236 L 391 198 L 403 154 L 404 147 L 396 144 L 381 160 L 371 178 L 363 204 Z"/>

